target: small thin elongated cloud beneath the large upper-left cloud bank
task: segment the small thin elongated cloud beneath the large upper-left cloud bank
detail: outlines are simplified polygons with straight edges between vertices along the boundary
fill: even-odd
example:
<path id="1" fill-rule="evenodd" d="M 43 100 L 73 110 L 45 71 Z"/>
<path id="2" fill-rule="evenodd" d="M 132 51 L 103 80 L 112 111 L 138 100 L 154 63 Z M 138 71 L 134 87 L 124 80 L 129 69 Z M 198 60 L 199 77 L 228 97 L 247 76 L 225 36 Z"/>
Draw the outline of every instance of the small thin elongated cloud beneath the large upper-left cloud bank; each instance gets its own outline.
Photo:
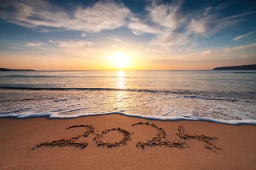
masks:
<path id="1" fill-rule="evenodd" d="M 74 41 L 74 40 L 68 40 L 68 41 L 59 41 L 59 40 L 49 40 L 50 43 L 56 44 L 58 47 L 62 48 L 82 48 L 82 47 L 90 47 L 94 45 L 94 42 L 90 41 Z"/>

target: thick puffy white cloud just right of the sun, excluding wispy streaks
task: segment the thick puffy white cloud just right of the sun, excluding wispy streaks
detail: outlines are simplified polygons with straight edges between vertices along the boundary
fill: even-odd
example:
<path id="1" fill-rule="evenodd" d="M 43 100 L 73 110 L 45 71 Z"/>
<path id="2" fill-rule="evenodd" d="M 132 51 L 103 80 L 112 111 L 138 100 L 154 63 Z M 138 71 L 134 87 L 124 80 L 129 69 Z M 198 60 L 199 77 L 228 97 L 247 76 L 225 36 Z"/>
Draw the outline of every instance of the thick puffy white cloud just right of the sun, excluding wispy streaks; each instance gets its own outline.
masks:
<path id="1" fill-rule="evenodd" d="M 133 18 L 128 28 L 135 35 L 143 33 L 154 34 L 154 38 L 149 45 L 159 47 L 171 47 L 186 45 L 190 38 L 183 33 L 178 33 L 177 29 L 183 26 L 186 18 L 180 15 L 181 3 L 178 4 L 161 4 L 146 7 L 147 15 L 144 18 Z M 169 50 L 168 50 L 169 51 Z"/>

